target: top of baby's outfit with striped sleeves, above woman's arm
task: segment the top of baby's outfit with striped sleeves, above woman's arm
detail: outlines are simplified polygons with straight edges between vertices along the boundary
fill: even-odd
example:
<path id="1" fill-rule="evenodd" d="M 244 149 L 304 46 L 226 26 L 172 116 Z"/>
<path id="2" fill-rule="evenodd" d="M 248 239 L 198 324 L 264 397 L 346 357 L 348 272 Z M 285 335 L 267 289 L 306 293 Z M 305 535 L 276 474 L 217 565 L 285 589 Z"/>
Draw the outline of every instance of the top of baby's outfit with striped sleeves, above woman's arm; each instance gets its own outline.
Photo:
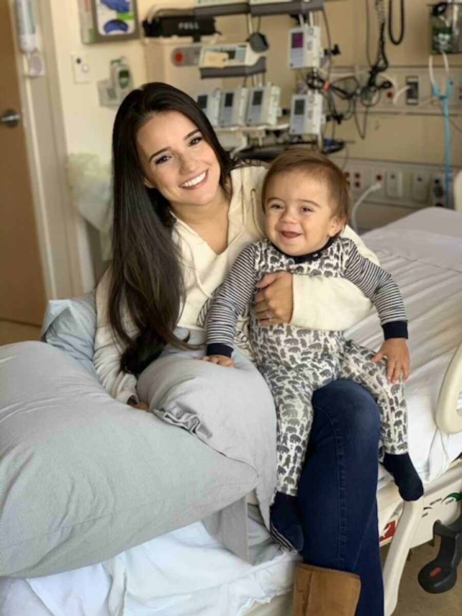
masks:
<path id="1" fill-rule="evenodd" d="M 385 339 L 407 338 L 407 318 L 398 286 L 390 274 L 359 253 L 354 241 L 338 237 L 317 253 L 291 257 L 263 240 L 240 253 L 214 294 L 206 320 L 208 355 L 232 355 L 237 320 L 252 301 L 257 282 L 269 272 L 282 270 L 346 278 L 375 305 Z"/>

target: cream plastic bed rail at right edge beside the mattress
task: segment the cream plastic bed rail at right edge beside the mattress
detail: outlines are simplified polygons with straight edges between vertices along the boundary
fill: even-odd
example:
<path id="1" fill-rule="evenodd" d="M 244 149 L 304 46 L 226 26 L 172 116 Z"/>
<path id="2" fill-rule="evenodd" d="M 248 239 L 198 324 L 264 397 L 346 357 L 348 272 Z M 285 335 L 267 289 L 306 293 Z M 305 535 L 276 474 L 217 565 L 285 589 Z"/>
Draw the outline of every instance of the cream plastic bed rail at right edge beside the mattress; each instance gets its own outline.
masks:
<path id="1" fill-rule="evenodd" d="M 457 412 L 457 400 L 462 391 L 462 342 L 450 361 L 438 395 L 436 424 L 446 434 L 462 432 L 462 414 Z"/>

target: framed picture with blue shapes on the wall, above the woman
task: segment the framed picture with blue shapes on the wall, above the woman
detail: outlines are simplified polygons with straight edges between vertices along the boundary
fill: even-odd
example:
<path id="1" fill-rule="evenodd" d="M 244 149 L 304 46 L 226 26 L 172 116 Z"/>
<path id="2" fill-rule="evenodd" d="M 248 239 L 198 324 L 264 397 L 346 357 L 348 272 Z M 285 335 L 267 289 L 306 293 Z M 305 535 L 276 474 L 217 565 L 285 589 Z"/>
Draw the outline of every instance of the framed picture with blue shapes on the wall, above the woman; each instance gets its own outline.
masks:
<path id="1" fill-rule="evenodd" d="M 83 43 L 139 38 L 136 0 L 79 0 Z"/>

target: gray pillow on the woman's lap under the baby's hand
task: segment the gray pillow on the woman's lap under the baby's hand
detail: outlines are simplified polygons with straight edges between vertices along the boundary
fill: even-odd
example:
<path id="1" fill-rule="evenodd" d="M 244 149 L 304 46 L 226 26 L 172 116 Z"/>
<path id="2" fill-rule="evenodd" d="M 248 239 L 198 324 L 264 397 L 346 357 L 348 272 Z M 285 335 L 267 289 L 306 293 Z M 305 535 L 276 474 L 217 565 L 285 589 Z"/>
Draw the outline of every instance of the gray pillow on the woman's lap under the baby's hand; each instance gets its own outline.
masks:
<path id="1" fill-rule="evenodd" d="M 185 330 L 183 331 L 183 334 Z M 181 330 L 177 330 L 184 338 Z M 203 333 L 191 331 L 192 344 Z M 204 351 L 167 347 L 140 375 L 137 390 L 156 416 L 194 434 L 229 460 L 248 464 L 259 478 L 256 496 L 269 527 L 269 505 L 276 482 L 276 413 L 264 378 L 239 351 L 235 368 L 193 359 Z M 248 559 L 247 511 L 221 511 L 220 521 L 205 521 L 209 532 L 238 556 Z"/>

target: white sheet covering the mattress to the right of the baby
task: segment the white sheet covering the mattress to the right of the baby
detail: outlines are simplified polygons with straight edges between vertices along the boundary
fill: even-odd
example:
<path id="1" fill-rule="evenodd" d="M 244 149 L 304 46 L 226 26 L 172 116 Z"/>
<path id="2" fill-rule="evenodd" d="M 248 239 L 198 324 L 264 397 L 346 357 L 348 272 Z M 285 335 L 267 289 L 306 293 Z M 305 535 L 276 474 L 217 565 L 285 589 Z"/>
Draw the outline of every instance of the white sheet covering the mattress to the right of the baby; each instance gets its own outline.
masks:
<path id="1" fill-rule="evenodd" d="M 429 229 L 439 230 L 439 233 Z M 462 215 L 431 208 L 363 236 L 400 286 L 410 320 L 411 376 L 405 386 L 410 455 L 424 482 L 462 452 L 462 432 L 442 434 L 433 419 L 439 386 L 462 341 Z M 347 331 L 378 349 L 376 314 Z M 458 407 L 462 409 L 462 397 Z M 382 469 L 382 476 L 386 472 Z"/>

